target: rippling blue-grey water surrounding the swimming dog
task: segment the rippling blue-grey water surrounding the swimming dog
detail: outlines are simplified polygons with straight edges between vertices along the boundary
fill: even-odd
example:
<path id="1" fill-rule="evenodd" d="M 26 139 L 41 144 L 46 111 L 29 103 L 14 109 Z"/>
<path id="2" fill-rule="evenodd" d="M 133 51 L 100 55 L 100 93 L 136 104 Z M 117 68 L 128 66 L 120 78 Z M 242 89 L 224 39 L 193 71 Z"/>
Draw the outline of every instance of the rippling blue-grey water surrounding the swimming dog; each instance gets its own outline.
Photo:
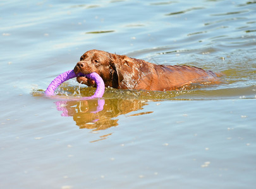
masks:
<path id="1" fill-rule="evenodd" d="M 1 188 L 254 188 L 255 1 L 1 1 L 0 12 Z M 72 80 L 63 100 L 42 96 L 90 49 L 224 75 L 67 102 L 95 90 Z"/>

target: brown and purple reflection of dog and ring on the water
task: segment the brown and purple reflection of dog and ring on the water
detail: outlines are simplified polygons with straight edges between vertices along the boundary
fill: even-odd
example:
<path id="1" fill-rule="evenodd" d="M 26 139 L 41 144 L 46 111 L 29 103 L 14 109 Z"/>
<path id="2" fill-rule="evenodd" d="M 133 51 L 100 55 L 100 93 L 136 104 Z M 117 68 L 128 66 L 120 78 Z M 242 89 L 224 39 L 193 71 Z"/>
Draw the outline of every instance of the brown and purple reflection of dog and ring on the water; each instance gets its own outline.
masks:
<path id="1" fill-rule="evenodd" d="M 118 115 L 142 110 L 145 105 L 147 102 L 142 100 L 120 98 L 56 102 L 57 109 L 63 112 L 61 116 L 73 117 L 80 129 L 92 130 L 104 130 L 117 126 Z"/>

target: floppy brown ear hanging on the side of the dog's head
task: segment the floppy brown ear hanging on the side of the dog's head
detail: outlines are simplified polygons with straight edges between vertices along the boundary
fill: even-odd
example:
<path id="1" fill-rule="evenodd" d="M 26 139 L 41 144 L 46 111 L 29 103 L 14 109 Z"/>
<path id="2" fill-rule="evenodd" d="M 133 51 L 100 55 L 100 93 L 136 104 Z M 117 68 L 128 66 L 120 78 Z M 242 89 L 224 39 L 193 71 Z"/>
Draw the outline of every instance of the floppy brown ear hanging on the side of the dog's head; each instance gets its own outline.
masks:
<path id="1" fill-rule="evenodd" d="M 121 81 L 123 81 L 123 73 L 121 69 L 121 61 L 119 60 L 118 55 L 111 54 L 110 67 L 112 68 L 112 86 L 113 88 L 119 88 Z"/>

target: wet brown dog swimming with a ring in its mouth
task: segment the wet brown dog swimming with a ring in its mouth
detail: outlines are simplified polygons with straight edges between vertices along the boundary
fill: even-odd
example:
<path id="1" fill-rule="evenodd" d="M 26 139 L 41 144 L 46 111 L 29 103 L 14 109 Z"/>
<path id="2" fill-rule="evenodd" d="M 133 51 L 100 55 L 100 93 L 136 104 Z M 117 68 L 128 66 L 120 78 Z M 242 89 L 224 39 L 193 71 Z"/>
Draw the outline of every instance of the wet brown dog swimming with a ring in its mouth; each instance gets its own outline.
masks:
<path id="1" fill-rule="evenodd" d="M 164 66 L 126 55 L 111 54 L 101 50 L 89 50 L 74 68 L 76 74 L 97 72 L 105 86 L 117 89 L 143 89 L 171 91 L 192 83 L 214 82 L 217 74 L 190 66 Z M 94 86 L 95 82 L 78 76 L 79 83 Z"/>

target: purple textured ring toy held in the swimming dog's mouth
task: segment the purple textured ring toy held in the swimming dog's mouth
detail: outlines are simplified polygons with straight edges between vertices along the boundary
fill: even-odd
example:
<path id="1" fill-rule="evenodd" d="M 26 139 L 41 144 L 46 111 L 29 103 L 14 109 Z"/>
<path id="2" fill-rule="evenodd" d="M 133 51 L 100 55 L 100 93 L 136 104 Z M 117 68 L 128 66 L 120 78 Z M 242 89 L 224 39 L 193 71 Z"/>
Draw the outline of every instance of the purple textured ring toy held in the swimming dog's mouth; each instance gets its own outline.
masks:
<path id="1" fill-rule="evenodd" d="M 85 76 L 88 79 L 92 79 L 97 84 L 97 89 L 92 96 L 85 96 L 82 98 L 73 98 L 72 100 L 90 100 L 93 98 L 102 98 L 104 91 L 105 91 L 105 84 L 101 76 L 97 74 L 96 72 L 92 72 L 90 74 L 79 74 L 79 76 Z M 62 74 L 60 74 L 58 77 L 56 77 L 47 87 L 46 91 L 44 91 L 44 94 L 46 96 L 52 96 L 54 95 L 54 91 L 58 86 L 63 83 L 64 81 L 67 81 L 68 79 L 71 79 L 73 77 L 76 77 L 76 74 L 73 70 L 66 71 Z"/>

